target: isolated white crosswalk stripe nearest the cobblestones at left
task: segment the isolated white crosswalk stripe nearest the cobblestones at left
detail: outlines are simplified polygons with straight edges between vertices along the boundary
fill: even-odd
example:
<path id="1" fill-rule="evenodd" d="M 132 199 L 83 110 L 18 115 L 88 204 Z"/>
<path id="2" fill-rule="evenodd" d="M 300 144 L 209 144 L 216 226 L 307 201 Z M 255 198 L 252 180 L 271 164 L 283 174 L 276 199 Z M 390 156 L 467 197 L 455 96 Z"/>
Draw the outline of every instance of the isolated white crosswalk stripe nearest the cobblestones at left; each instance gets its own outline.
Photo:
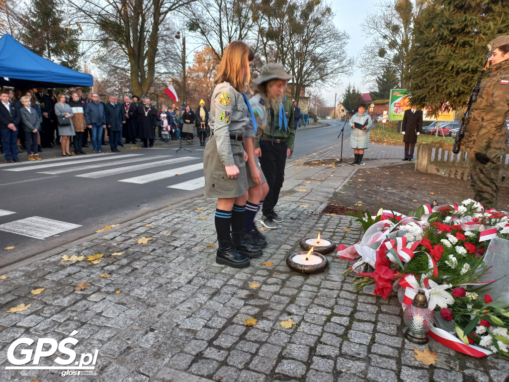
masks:
<path id="1" fill-rule="evenodd" d="M 26 219 L 0 224 L 0 231 L 34 237 L 36 239 L 44 239 L 79 227 L 81 227 L 79 224 L 32 216 L 26 217 Z"/>

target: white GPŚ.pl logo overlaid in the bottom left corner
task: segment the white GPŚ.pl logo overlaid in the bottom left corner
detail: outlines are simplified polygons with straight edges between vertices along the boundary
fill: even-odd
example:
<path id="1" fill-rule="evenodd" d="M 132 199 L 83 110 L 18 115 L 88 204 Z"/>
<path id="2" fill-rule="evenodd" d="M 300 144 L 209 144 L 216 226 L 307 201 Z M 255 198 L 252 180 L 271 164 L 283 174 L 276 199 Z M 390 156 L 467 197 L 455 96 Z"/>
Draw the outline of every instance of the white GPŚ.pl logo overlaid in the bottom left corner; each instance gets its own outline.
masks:
<path id="1" fill-rule="evenodd" d="M 92 353 L 82 353 L 79 361 L 76 360 L 77 354 L 76 352 L 66 347 L 66 345 L 76 346 L 78 340 L 76 338 L 72 338 L 78 331 L 73 331 L 68 338 L 64 338 L 60 342 L 56 342 L 53 338 L 39 338 L 37 344 L 35 346 L 35 350 L 31 348 L 31 346 L 35 343 L 35 341 L 31 338 L 18 338 L 15 340 L 7 349 L 7 360 L 11 363 L 11 365 L 15 366 L 6 366 L 6 370 L 64 370 L 62 371 L 62 376 L 66 375 L 97 375 L 92 374 L 93 370 L 95 370 L 95 365 L 97 362 L 97 356 L 99 355 L 99 349 L 96 349 L 94 354 Z M 18 346 L 24 345 L 20 351 L 19 355 L 21 357 L 17 357 L 14 354 L 14 351 Z M 46 346 L 46 349 L 44 347 Z M 48 348 L 49 347 L 49 348 Z M 39 366 L 39 362 L 41 359 L 45 359 L 47 357 L 53 356 L 56 353 L 56 350 L 62 353 L 62 356 L 67 356 L 63 358 L 59 356 L 54 359 L 54 364 L 52 366 Z M 29 365 L 30 360 L 34 356 L 34 360 L 31 365 Z M 71 366 L 73 365 L 73 366 Z"/>

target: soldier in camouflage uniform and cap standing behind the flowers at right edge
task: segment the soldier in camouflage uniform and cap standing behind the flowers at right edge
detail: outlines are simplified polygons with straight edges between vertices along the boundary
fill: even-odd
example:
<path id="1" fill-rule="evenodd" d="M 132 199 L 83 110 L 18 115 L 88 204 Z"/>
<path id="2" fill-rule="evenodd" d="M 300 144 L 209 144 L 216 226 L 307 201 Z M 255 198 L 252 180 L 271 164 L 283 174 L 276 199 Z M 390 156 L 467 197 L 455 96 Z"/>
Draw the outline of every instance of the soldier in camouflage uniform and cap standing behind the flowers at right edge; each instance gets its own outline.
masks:
<path id="1" fill-rule="evenodd" d="M 470 162 L 470 185 L 474 199 L 494 207 L 498 198 L 500 159 L 507 141 L 505 120 L 509 117 L 509 36 L 488 44 L 492 49 L 491 68 L 477 101 L 472 103 L 464 146 Z"/>

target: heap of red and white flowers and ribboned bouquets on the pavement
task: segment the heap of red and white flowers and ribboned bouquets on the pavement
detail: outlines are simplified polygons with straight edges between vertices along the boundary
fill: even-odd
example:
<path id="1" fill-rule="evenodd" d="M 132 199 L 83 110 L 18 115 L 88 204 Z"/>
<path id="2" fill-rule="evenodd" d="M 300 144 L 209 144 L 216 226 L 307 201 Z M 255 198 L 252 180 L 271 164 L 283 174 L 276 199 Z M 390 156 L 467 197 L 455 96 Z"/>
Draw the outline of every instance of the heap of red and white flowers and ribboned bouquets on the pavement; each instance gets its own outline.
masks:
<path id="1" fill-rule="evenodd" d="M 507 213 L 467 199 L 459 205 L 422 205 L 408 216 L 387 210 L 362 215 L 360 208 L 352 215 L 364 236 L 338 255 L 360 257 L 345 271 L 356 274 L 357 291 L 369 286 L 383 298 L 397 293 L 405 309 L 422 289 L 438 318 L 432 338 L 475 357 L 492 352 L 509 357 L 504 279 L 509 269 L 502 261 L 509 255 Z"/>

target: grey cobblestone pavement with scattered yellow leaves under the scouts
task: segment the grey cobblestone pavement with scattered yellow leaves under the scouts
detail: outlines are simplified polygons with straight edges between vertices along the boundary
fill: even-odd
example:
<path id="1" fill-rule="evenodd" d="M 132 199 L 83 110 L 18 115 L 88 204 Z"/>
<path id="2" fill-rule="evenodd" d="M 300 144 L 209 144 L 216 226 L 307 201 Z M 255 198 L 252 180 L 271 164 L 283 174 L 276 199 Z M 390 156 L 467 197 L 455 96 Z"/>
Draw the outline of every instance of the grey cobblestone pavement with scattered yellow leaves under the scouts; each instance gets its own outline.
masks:
<path id="1" fill-rule="evenodd" d="M 509 374 L 505 359 L 477 360 L 433 340 L 426 346 L 404 340 L 397 299 L 354 293 L 352 278 L 343 276 L 350 262 L 331 254 L 329 267 L 311 276 L 287 268 L 286 256 L 318 231 L 346 245 L 361 237 L 352 217 L 320 213 L 352 169 L 289 166 L 278 206 L 285 222 L 265 231 L 264 256 L 248 268 L 215 263 L 215 205 L 195 198 L 6 272 L 0 280 L 0 380 L 63 380 L 60 371 L 6 370 L 12 366 L 7 349 L 21 337 L 60 342 L 77 331 L 71 337 L 79 341 L 77 360 L 98 349 L 97 376 L 68 381 L 502 382 Z M 142 237 L 152 240 L 138 244 Z M 104 254 L 97 264 L 61 261 L 97 253 Z M 90 287 L 75 290 L 83 282 Z M 37 288 L 45 290 L 30 293 Z M 22 303 L 31 306 L 6 313 Z M 245 326 L 250 317 L 257 324 Z M 280 325 L 290 318 L 296 326 Z M 18 346 L 14 356 L 23 358 L 26 347 Z M 412 357 L 414 347 L 437 351 L 464 372 L 440 362 L 422 365 Z M 54 366 L 57 354 L 39 365 Z"/>

